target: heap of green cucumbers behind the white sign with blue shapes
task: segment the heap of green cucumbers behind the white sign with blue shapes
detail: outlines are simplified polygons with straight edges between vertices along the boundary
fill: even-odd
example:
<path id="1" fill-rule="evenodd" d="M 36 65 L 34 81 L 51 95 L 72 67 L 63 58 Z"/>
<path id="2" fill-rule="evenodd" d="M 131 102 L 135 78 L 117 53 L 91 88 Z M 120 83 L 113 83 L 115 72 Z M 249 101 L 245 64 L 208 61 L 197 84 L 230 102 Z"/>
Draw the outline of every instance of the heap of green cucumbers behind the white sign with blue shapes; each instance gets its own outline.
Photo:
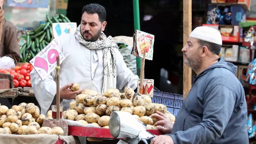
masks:
<path id="1" fill-rule="evenodd" d="M 46 23 L 26 33 L 27 42 L 19 49 L 20 62 L 29 62 L 53 40 L 53 23 L 70 23 L 70 20 L 63 14 L 52 16 L 52 18 L 46 15 L 46 19 Z"/>

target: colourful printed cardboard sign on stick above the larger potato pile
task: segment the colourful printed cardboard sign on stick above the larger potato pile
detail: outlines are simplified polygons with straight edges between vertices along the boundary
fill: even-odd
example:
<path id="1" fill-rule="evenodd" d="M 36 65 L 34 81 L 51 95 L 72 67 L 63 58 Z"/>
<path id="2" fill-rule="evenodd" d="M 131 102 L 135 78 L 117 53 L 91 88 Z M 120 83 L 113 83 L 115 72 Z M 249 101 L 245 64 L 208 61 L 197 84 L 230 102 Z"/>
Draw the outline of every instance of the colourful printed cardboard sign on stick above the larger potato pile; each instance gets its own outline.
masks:
<path id="1" fill-rule="evenodd" d="M 153 45 L 155 36 L 140 30 L 135 30 L 133 33 L 133 47 L 131 54 L 143 58 L 146 50 L 145 59 L 153 60 Z"/>

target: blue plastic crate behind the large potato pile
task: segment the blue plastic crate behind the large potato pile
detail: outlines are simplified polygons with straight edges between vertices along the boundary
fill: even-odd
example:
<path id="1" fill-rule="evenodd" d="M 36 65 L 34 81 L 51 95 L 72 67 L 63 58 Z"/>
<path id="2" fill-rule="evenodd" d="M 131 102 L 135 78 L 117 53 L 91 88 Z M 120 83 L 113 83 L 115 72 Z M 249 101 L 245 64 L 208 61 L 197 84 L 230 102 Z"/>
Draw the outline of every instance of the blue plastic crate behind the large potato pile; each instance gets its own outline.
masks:
<path id="1" fill-rule="evenodd" d="M 183 96 L 154 90 L 152 103 L 164 104 L 167 111 L 176 117 L 183 103 Z"/>

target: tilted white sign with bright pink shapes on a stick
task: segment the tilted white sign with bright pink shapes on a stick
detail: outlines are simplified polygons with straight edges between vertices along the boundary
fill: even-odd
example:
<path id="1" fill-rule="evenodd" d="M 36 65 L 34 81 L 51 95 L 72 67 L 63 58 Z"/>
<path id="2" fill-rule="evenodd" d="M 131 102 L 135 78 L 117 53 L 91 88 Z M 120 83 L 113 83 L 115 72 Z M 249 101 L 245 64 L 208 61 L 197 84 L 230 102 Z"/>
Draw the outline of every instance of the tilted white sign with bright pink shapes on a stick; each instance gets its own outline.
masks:
<path id="1" fill-rule="evenodd" d="M 56 42 L 52 41 L 29 62 L 41 79 L 44 80 L 57 67 L 57 56 L 60 56 L 60 63 L 65 59 Z"/>

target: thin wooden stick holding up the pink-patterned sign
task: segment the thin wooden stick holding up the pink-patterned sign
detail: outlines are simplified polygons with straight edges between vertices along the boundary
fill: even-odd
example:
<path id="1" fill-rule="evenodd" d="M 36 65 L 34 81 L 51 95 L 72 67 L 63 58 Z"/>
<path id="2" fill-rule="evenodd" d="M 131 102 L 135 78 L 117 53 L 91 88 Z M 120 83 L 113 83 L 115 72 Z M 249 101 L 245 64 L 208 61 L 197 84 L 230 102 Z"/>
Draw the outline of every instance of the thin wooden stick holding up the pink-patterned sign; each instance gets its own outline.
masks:
<path id="1" fill-rule="evenodd" d="M 59 56 L 57 57 L 57 67 L 60 67 L 60 63 L 59 63 Z M 57 121 L 60 120 L 60 95 L 59 95 L 59 70 L 56 70 L 56 106 L 57 106 Z"/>

